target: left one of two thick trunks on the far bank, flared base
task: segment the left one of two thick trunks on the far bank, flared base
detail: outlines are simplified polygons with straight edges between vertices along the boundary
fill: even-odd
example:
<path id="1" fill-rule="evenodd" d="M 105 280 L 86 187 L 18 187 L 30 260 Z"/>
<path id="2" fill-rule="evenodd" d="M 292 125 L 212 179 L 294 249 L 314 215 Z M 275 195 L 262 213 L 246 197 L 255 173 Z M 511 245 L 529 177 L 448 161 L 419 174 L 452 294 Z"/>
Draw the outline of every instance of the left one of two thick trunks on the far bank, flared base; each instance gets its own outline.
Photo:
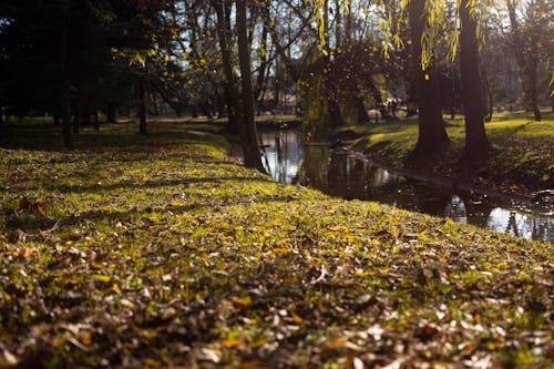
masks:
<path id="1" fill-rule="evenodd" d="M 443 150 L 450 140 L 444 130 L 438 75 L 421 66 L 421 35 L 425 27 L 425 0 L 412 0 L 409 20 L 412 41 L 412 71 L 416 100 L 419 109 L 419 134 L 411 156 L 435 153 Z"/>

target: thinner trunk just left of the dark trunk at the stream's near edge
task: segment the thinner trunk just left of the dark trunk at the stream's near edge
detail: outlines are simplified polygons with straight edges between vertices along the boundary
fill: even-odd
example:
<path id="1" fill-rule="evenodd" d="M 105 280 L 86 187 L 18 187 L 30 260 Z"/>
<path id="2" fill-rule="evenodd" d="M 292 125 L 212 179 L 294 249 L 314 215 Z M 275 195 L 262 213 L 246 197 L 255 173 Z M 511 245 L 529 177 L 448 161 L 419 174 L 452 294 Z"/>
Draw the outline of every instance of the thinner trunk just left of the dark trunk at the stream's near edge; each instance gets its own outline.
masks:
<path id="1" fill-rule="evenodd" d="M 230 59 L 230 4 L 223 1 L 213 0 L 212 6 L 215 8 L 217 16 L 217 35 L 219 39 L 219 49 L 222 50 L 223 70 L 225 73 L 225 100 L 227 105 L 227 131 L 230 133 L 238 132 L 238 114 L 239 101 L 238 89 L 233 74 L 233 62 Z"/>

